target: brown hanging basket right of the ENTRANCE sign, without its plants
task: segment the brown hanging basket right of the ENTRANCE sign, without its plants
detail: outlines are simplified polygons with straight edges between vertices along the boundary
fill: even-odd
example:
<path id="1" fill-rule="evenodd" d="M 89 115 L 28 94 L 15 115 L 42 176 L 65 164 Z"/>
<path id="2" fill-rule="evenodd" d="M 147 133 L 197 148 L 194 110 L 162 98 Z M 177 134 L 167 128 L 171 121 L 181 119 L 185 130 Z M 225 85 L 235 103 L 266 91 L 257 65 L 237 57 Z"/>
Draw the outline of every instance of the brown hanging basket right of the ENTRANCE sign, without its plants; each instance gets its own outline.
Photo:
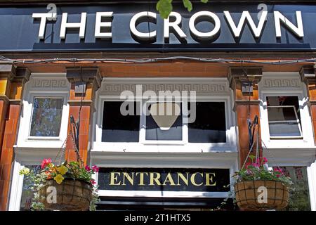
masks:
<path id="1" fill-rule="evenodd" d="M 258 202 L 258 195 L 263 194 L 259 187 L 267 188 L 266 202 Z M 241 210 L 279 210 L 289 203 L 289 188 L 281 181 L 239 181 L 235 184 L 235 196 Z"/>

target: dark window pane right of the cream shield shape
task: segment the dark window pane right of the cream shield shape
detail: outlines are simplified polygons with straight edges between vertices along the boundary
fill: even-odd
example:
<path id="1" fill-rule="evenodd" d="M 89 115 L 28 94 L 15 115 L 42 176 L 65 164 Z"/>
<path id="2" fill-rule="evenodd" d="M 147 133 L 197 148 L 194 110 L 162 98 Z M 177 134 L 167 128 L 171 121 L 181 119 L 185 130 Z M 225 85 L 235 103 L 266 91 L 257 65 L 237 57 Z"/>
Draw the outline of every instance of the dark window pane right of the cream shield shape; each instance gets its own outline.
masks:
<path id="1" fill-rule="evenodd" d="M 188 124 L 189 142 L 225 143 L 225 103 L 197 102 L 196 120 Z"/>

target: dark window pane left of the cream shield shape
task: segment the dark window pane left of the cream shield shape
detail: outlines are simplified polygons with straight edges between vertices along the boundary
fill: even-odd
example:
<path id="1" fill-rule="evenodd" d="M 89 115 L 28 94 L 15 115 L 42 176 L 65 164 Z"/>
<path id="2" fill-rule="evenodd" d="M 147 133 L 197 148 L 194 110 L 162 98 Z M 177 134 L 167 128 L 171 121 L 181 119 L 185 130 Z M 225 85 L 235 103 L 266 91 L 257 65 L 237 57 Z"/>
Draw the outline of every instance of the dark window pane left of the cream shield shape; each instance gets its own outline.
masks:
<path id="1" fill-rule="evenodd" d="M 102 141 L 103 142 L 138 142 L 140 116 L 136 115 L 138 104 L 126 106 L 133 115 L 122 115 L 120 101 L 105 101 L 103 107 Z M 133 105 L 133 106 L 131 106 Z M 129 108 L 129 106 L 133 107 Z M 131 113 L 132 114 L 132 113 Z"/>

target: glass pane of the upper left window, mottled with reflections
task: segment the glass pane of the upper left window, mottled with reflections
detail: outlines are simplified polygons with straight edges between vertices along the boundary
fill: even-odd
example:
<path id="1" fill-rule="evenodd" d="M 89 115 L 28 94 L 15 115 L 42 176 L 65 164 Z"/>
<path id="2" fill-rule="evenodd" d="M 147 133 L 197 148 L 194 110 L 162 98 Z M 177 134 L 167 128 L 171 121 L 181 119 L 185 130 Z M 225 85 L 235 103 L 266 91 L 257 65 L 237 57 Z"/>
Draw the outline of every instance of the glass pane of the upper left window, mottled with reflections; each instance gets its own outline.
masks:
<path id="1" fill-rule="evenodd" d="M 62 98 L 34 98 L 30 136 L 59 136 Z"/>

